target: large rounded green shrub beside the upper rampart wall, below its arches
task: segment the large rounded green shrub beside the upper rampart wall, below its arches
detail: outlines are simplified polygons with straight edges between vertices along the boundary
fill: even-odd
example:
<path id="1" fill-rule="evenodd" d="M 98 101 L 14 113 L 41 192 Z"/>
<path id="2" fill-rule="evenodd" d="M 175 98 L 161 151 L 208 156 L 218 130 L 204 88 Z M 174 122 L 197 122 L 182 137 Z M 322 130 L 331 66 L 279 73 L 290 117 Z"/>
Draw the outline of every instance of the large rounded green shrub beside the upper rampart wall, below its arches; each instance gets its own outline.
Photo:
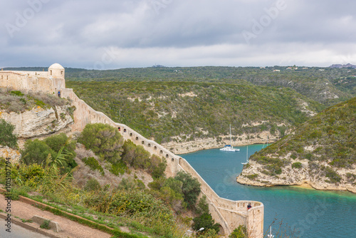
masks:
<path id="1" fill-rule="evenodd" d="M 117 128 L 103 123 L 85 125 L 78 142 L 85 145 L 88 150 L 93 150 L 96 155 L 104 160 L 112 163 L 120 160 L 124 143 Z"/>

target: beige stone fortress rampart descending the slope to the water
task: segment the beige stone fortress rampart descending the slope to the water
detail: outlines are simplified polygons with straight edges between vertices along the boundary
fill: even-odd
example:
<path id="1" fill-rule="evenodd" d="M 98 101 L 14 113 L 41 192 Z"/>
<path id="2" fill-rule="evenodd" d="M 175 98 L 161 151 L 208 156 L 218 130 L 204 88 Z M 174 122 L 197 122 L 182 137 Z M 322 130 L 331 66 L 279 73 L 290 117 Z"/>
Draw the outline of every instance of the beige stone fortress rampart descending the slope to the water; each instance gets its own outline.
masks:
<path id="1" fill-rule="evenodd" d="M 1 71 L 0 71 L 1 72 Z M 167 177 L 174 177 L 177 172 L 184 171 L 196 177 L 201 184 L 201 192 L 206 195 L 206 199 L 209 203 L 209 212 L 216 222 L 221 224 L 222 229 L 226 235 L 230 234 L 239 225 L 246 225 L 248 230 L 248 237 L 262 238 L 263 237 L 263 204 L 261 202 L 254 201 L 232 201 L 219 197 L 219 195 L 211 189 L 211 187 L 201 178 L 201 176 L 194 170 L 194 168 L 189 165 L 187 160 L 174 155 L 172 152 L 162 147 L 153 140 L 148 140 L 143 137 L 135 130 L 132 130 L 127 125 L 121 123 L 115 123 L 104 113 L 98 112 L 86 104 L 83 100 L 78 98 L 71 88 L 65 88 L 64 78 L 63 82 L 59 81 L 60 84 L 56 84 L 56 79 L 51 79 L 47 76 L 46 80 L 53 82 L 48 83 L 48 85 L 43 85 L 43 83 L 31 85 L 30 75 L 26 76 L 27 72 L 9 72 L 3 71 L 9 74 L 9 80 L 3 82 L 1 80 L 1 87 L 15 88 L 17 90 L 39 90 L 48 91 L 48 93 L 57 92 L 60 90 L 61 97 L 69 98 L 73 101 L 75 105 L 74 111 L 74 123 L 72 125 L 72 131 L 81 131 L 85 128 L 88 123 L 105 123 L 114 126 L 120 130 L 121 135 L 125 140 L 132 140 L 137 145 L 142 145 L 145 150 L 149 151 L 151 154 L 159 155 L 167 160 L 167 169 L 165 174 Z M 49 73 L 49 71 L 48 71 Z M 56 71 L 56 73 L 61 73 Z M 1 76 L 8 76 L 6 73 L 1 74 Z M 64 72 L 62 74 L 64 76 Z M 18 77 L 20 76 L 20 77 Z M 37 75 L 35 75 L 37 76 Z M 61 74 L 60 74 L 61 76 Z M 39 77 L 39 76 L 37 76 Z M 7 80 L 7 78 L 6 78 Z M 21 82 L 22 81 L 22 82 Z M 46 83 L 45 83 L 46 84 Z M 43 88 L 42 88 L 43 87 Z M 251 203 L 252 208 L 247 209 L 248 203 Z"/>

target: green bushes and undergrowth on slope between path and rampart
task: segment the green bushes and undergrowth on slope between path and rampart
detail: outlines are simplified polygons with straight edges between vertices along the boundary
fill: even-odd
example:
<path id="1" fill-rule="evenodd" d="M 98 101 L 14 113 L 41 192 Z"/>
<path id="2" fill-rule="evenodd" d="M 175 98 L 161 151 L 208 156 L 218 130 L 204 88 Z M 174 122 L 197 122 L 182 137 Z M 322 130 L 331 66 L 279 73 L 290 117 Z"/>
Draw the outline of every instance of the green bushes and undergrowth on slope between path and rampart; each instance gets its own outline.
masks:
<path id="1" fill-rule="evenodd" d="M 204 215 L 209 217 L 206 200 L 198 201 L 201 191 L 197 178 L 184 172 L 179 172 L 176 177 L 164 177 L 167 166 L 164 158 L 150 155 L 131 141 L 123 143 L 117 128 L 100 123 L 89 124 L 79 138 L 99 157 L 98 160 L 94 157 L 83 157 L 82 160 L 84 166 L 99 170 L 98 180 L 100 176 L 110 174 L 108 176 L 112 178 L 124 172 L 127 172 L 127 178 L 122 177 L 118 184 L 110 180 L 100 185 L 95 177 L 88 176 L 83 185 L 78 185 L 73 177 L 73 172 L 80 170 L 73 161 L 75 142 L 65 134 L 53 135 L 43 141 L 26 141 L 20 164 L 11 166 L 12 198 L 16 200 L 19 195 L 28 196 L 28 192 L 36 192 L 39 200 L 49 200 L 57 207 L 60 204 L 61 209 L 70 209 L 72 213 L 113 227 L 113 233 L 120 234 L 117 237 L 142 237 L 143 232 L 150 237 L 178 238 L 190 227 L 192 218 L 181 216 L 188 209 L 189 213 L 197 216 L 204 211 Z M 5 143 L 11 140 L 4 138 Z M 9 162 L 0 158 L 2 184 L 6 181 L 6 164 Z M 101 165 L 105 165 L 105 171 Z M 150 183 L 151 189 L 136 175 L 135 178 L 130 177 L 133 169 L 152 174 L 155 180 Z M 205 221 L 204 217 L 199 220 Z M 122 226 L 130 227 L 139 235 L 118 231 L 117 227 Z M 201 232 L 201 237 L 216 237 L 219 224 L 214 224 L 214 229 L 216 231 L 206 229 Z"/>

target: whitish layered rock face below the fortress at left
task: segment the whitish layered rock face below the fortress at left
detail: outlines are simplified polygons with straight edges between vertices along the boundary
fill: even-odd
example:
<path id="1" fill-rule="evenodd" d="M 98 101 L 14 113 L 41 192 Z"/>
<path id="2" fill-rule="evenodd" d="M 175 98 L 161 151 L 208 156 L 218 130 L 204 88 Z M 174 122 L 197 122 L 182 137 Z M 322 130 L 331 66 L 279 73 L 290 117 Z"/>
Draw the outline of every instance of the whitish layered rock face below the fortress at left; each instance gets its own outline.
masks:
<path id="1" fill-rule="evenodd" d="M 67 106 L 43 109 L 33 108 L 24 113 L 6 113 L 0 111 L 0 118 L 15 125 L 14 134 L 21 139 L 40 138 L 45 135 L 68 129 L 73 119 L 67 112 Z"/>

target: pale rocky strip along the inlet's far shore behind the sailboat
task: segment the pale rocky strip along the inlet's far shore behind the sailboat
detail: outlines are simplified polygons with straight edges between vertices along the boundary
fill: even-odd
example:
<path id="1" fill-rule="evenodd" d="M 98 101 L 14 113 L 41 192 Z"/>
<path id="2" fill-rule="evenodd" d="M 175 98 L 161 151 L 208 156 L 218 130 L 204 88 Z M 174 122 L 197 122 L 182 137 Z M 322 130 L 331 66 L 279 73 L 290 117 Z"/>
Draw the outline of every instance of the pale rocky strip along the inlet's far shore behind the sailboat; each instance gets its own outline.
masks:
<path id="1" fill-rule="evenodd" d="M 233 146 L 243 146 L 252 144 L 263 144 L 266 143 L 268 137 L 268 142 L 273 143 L 279 138 L 279 134 L 271 135 L 267 131 L 256 134 L 243 134 L 240 136 L 241 140 L 236 140 L 232 142 Z M 209 150 L 214 148 L 222 148 L 224 145 L 230 144 L 230 137 L 226 135 L 220 135 L 222 140 L 216 140 L 216 138 L 197 138 L 196 140 L 187 142 L 174 142 L 162 143 L 164 148 L 169 149 L 169 151 L 174 154 L 186 154 L 189 152 L 195 152 L 198 150 Z"/>

